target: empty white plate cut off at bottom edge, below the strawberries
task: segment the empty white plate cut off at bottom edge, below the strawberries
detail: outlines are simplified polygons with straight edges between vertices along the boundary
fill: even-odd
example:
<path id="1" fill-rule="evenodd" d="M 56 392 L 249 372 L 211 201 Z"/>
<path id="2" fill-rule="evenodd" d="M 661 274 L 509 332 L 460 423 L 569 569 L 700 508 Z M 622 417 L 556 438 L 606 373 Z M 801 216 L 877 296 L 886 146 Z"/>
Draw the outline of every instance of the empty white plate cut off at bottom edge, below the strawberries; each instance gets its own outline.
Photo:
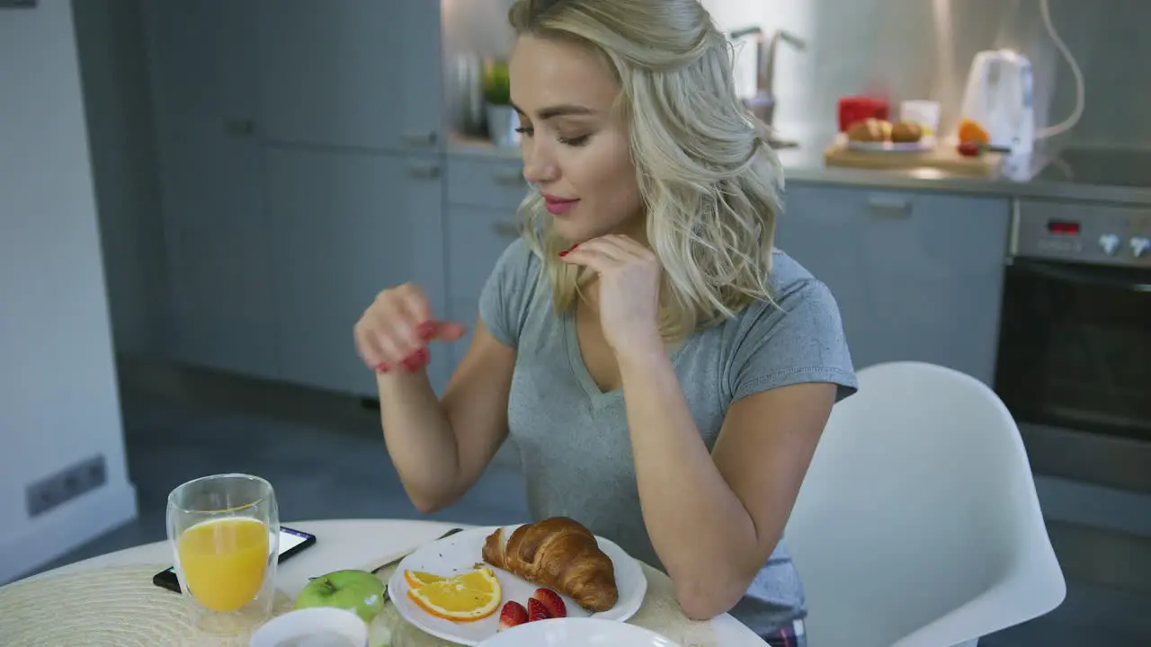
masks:
<path id="1" fill-rule="evenodd" d="M 627 623 L 595 618 L 539 621 L 501 631 L 480 647 L 679 647 L 674 642 Z"/>

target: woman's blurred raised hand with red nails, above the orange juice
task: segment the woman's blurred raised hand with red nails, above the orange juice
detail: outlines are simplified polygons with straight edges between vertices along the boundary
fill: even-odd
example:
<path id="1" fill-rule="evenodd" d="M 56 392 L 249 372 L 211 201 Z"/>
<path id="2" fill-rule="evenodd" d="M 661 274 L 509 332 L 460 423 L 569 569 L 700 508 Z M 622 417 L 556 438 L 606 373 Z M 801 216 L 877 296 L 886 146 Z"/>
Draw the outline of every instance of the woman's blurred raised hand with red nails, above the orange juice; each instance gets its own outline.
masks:
<path id="1" fill-rule="evenodd" d="M 355 335 L 356 350 L 369 368 L 414 373 L 432 357 L 428 342 L 453 342 L 464 336 L 464 327 L 434 319 L 424 290 L 404 283 L 376 295 L 356 322 Z"/>

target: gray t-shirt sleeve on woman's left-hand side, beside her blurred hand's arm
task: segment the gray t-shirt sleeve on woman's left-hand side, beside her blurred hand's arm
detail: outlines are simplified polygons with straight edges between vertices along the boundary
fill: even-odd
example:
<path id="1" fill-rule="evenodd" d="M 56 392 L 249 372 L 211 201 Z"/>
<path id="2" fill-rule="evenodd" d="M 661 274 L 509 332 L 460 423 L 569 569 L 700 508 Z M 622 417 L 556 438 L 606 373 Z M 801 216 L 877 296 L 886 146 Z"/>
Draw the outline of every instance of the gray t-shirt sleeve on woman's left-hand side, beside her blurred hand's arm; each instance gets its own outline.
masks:
<path id="1" fill-rule="evenodd" d="M 480 292 L 480 320 L 496 340 L 516 348 L 534 284 L 532 251 L 520 238 L 500 256 Z"/>

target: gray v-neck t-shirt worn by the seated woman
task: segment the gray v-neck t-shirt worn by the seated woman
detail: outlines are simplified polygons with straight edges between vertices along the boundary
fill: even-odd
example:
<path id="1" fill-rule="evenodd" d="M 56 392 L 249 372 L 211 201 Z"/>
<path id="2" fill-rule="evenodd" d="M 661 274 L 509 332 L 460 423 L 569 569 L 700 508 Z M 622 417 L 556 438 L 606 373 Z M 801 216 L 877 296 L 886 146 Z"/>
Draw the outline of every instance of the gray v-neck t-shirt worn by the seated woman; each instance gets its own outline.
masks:
<path id="1" fill-rule="evenodd" d="M 523 241 L 501 256 L 480 297 L 480 318 L 517 351 L 508 401 L 532 517 L 563 515 L 662 569 L 640 511 L 623 391 L 603 393 L 584 364 L 572 314 L 557 317 L 542 262 Z M 773 297 L 698 332 L 672 352 L 688 408 L 710 451 L 727 406 L 799 382 L 854 393 L 839 309 L 826 286 L 776 250 Z M 806 614 L 803 589 L 780 541 L 732 615 L 765 634 Z"/>

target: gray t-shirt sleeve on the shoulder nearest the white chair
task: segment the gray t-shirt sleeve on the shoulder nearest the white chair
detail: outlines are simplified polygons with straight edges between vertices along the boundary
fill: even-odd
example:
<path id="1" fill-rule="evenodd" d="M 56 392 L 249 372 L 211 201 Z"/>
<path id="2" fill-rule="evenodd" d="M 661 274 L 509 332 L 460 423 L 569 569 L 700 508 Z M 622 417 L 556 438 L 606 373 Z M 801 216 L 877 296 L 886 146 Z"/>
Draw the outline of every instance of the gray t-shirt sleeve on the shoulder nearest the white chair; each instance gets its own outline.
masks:
<path id="1" fill-rule="evenodd" d="M 807 279 L 777 295 L 776 304 L 759 303 L 745 313 L 727 372 L 732 402 L 802 382 L 837 385 L 837 402 L 855 393 L 855 370 L 831 290 Z"/>

